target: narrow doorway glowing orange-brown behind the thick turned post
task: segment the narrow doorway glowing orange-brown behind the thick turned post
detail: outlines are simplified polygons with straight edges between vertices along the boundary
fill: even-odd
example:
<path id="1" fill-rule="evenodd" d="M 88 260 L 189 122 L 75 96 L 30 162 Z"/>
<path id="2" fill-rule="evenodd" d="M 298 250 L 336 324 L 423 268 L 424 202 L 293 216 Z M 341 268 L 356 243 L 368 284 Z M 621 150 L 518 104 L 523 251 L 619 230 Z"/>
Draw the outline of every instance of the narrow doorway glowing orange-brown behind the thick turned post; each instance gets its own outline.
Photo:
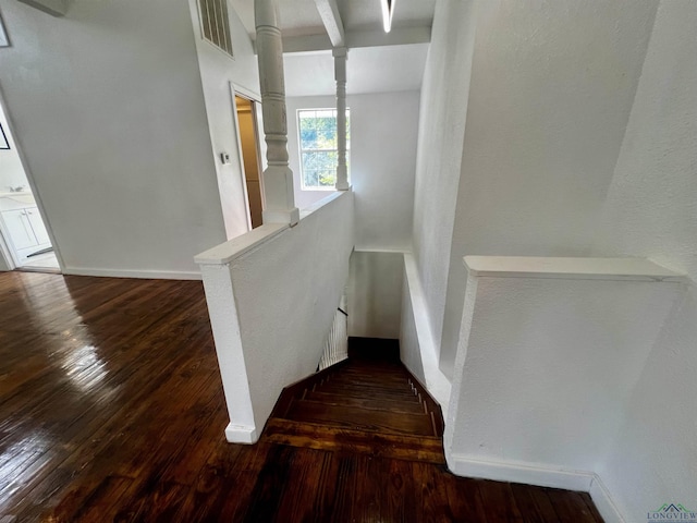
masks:
<path id="1" fill-rule="evenodd" d="M 259 139 L 259 104 L 239 92 L 234 93 L 237 136 L 240 137 L 240 158 L 244 170 L 247 194 L 249 228 L 256 229 L 264 223 L 264 181 L 261 178 L 261 147 Z"/>

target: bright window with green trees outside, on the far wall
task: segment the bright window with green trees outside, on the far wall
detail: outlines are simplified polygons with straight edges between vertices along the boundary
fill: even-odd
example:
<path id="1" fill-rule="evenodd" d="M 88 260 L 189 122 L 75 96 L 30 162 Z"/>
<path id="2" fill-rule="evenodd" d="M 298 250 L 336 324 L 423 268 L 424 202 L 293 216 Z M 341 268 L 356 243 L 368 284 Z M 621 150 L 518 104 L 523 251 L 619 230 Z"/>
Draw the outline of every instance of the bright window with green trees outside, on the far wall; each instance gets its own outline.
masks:
<path id="1" fill-rule="evenodd" d="M 301 171 L 303 188 L 331 190 L 337 184 L 337 110 L 299 109 L 297 127 L 301 147 Z M 346 169 L 351 125 L 346 109 Z"/>

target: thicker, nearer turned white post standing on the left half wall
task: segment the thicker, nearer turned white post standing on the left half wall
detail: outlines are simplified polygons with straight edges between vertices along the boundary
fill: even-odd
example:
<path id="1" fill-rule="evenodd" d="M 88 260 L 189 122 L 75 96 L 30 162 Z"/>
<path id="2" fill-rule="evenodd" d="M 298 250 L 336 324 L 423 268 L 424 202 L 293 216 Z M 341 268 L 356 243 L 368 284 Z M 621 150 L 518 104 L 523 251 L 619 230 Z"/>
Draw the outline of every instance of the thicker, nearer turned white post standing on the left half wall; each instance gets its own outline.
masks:
<path id="1" fill-rule="evenodd" d="M 264 171 L 266 209 L 264 223 L 290 223 L 299 220 L 293 194 L 293 171 L 288 166 L 288 122 L 285 118 L 285 83 L 283 80 L 283 45 L 278 26 L 276 0 L 255 0 L 257 54 L 264 134 L 269 167 Z"/>

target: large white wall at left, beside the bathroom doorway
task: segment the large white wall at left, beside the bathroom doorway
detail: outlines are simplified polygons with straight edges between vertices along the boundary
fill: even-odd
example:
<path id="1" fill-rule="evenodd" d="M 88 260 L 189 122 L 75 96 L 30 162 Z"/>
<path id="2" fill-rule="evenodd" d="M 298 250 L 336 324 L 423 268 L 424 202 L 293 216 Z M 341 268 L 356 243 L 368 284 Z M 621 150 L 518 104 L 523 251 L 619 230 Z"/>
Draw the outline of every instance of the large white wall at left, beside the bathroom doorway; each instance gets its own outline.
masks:
<path id="1" fill-rule="evenodd" d="M 225 233 L 187 2 L 0 10 L 5 109 L 65 270 L 196 277 Z"/>

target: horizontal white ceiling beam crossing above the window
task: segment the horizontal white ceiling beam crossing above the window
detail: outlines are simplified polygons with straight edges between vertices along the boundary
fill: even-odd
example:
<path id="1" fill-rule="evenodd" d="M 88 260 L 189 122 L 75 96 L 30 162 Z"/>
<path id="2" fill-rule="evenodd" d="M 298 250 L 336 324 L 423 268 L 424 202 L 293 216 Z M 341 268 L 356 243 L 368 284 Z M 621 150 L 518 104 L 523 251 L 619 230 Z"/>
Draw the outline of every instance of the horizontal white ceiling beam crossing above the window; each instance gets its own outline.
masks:
<path id="1" fill-rule="evenodd" d="M 430 27 L 395 27 L 390 33 L 382 31 L 351 31 L 345 34 L 347 48 L 404 46 L 431 41 Z M 292 36 L 283 38 L 283 52 L 329 51 L 332 42 L 326 35 Z"/>

